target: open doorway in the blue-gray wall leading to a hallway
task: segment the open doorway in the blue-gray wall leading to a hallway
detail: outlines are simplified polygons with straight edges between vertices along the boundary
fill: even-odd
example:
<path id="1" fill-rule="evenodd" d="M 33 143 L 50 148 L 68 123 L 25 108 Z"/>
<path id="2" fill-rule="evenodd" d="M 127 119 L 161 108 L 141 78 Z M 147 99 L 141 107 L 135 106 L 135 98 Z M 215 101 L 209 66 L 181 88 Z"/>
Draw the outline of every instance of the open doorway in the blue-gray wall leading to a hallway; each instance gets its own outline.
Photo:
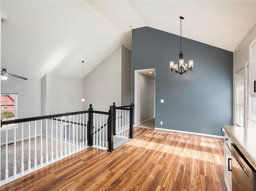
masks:
<path id="1" fill-rule="evenodd" d="M 155 128 L 156 69 L 134 71 L 134 124 Z"/>

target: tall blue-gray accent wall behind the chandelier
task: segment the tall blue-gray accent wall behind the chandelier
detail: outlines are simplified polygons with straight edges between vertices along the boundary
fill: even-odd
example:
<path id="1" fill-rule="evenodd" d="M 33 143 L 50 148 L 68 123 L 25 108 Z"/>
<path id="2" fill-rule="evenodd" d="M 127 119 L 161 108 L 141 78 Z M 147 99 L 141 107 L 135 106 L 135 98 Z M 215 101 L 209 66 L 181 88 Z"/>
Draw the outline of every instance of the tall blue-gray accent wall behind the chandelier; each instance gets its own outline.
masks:
<path id="1" fill-rule="evenodd" d="M 194 68 L 179 75 L 169 68 L 171 60 L 178 63 L 179 51 L 178 35 L 132 30 L 132 101 L 134 71 L 156 68 L 155 127 L 223 136 L 221 127 L 232 125 L 233 53 L 182 38 L 184 61 L 193 59 Z"/>

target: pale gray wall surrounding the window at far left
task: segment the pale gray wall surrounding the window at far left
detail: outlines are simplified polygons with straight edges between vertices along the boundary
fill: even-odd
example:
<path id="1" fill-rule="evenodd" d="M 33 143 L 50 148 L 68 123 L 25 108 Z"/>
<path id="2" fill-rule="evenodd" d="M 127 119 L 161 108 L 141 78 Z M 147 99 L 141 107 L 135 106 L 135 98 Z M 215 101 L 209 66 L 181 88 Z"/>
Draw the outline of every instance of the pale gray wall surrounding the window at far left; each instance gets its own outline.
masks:
<path id="1" fill-rule="evenodd" d="M 9 77 L 1 81 L 2 93 L 17 93 L 18 118 L 35 117 L 41 115 L 41 89 L 39 79 L 22 80 Z M 28 137 L 28 131 L 24 127 L 24 137 Z M 39 129 L 38 131 L 39 132 Z M 1 131 L 1 143 L 5 142 L 6 130 Z M 31 134 L 34 134 L 33 124 Z M 8 140 L 13 140 L 14 130 L 8 130 Z M 16 131 L 17 139 L 21 138 L 21 128 Z"/>

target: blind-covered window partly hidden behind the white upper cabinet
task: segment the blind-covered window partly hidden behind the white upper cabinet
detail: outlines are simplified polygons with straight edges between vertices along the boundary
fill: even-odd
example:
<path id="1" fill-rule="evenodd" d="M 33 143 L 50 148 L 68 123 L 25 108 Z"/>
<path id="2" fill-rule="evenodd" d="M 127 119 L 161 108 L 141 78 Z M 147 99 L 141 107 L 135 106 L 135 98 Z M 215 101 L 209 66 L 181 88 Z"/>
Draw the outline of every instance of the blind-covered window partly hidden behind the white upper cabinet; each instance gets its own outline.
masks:
<path id="1" fill-rule="evenodd" d="M 256 128 L 256 97 L 250 96 L 249 91 L 249 63 L 246 62 L 245 126 Z"/>

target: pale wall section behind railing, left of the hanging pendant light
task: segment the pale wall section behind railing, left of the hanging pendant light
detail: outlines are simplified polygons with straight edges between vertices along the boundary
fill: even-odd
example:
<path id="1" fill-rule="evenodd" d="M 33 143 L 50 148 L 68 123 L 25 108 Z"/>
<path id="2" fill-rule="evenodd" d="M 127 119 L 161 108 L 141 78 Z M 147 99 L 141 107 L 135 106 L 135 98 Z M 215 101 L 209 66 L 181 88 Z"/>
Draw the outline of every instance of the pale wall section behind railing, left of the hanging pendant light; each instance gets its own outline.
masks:
<path id="1" fill-rule="evenodd" d="M 42 111 L 44 111 L 42 115 L 83 110 L 82 79 L 46 74 L 41 82 Z"/>

